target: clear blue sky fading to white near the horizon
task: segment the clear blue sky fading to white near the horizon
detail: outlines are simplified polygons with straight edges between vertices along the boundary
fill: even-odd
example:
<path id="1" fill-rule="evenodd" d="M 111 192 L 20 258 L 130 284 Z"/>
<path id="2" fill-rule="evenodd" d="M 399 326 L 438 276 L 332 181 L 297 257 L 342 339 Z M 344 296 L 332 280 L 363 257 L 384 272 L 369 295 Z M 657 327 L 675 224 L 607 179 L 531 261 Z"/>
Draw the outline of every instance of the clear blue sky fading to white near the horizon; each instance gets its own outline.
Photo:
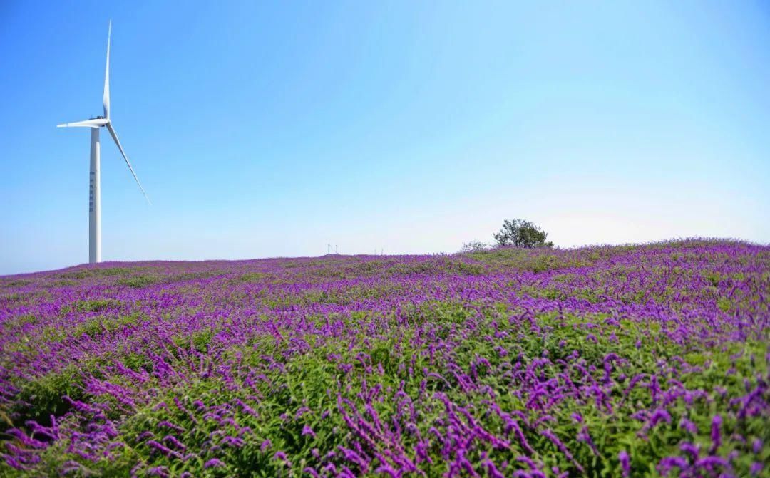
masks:
<path id="1" fill-rule="evenodd" d="M 767 2 L 0 2 L 0 274 L 102 258 L 770 242 Z"/>

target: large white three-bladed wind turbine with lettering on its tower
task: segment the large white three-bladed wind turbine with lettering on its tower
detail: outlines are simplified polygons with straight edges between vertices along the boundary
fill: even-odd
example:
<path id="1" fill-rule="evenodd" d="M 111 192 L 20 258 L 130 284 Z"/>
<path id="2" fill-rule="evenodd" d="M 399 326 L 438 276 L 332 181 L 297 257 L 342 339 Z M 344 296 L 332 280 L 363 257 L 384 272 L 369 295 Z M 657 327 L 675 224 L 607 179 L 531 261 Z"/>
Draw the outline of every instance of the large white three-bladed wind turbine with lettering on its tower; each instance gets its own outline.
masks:
<path id="1" fill-rule="evenodd" d="M 115 132 L 115 128 L 112 127 L 112 122 L 109 119 L 109 37 L 112 35 L 112 20 L 109 21 L 109 27 L 107 30 L 107 66 L 104 72 L 104 96 L 102 98 L 102 105 L 104 106 L 104 116 L 96 116 L 92 119 L 86 119 L 85 121 L 79 121 L 74 123 L 64 123 L 57 125 L 58 128 L 69 128 L 79 126 L 82 128 L 91 129 L 91 170 L 89 172 L 89 263 L 94 264 L 102 261 L 102 194 L 101 194 L 101 179 L 99 175 L 99 152 L 101 147 L 99 145 L 99 128 L 105 127 L 109 131 L 109 135 L 115 140 L 115 145 L 118 146 L 120 154 L 123 155 L 123 159 L 126 159 L 126 165 L 129 166 L 131 174 L 136 179 L 136 184 L 139 185 L 139 189 L 149 202 L 147 193 L 142 188 L 142 183 L 139 182 L 139 178 L 136 177 L 136 172 L 131 166 L 129 157 L 126 156 L 126 152 L 123 151 L 123 147 L 118 140 L 118 134 Z M 152 204 L 152 203 L 150 203 Z"/>

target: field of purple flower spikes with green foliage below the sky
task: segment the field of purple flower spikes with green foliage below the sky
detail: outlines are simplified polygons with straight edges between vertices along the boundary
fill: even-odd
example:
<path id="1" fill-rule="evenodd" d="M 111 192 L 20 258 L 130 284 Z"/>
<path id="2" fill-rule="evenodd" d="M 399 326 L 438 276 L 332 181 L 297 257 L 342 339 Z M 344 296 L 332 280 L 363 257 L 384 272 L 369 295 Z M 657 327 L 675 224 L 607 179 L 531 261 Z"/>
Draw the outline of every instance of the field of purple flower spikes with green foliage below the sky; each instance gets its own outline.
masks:
<path id="1" fill-rule="evenodd" d="M 770 476 L 770 248 L 0 277 L 0 476 Z"/>

